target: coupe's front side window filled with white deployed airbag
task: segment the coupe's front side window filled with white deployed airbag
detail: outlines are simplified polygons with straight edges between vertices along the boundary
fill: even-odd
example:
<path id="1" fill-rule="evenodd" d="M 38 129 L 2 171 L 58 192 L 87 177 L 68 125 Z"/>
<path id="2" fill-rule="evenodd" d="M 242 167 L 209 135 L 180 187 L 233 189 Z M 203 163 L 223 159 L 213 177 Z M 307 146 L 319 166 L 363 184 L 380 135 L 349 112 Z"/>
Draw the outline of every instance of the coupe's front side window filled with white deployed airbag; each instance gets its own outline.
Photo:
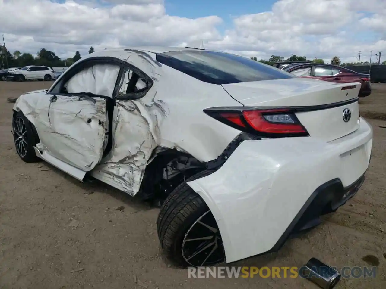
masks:
<path id="1" fill-rule="evenodd" d="M 117 64 L 87 66 L 64 84 L 61 93 L 89 92 L 113 97 L 119 70 L 120 66 Z"/>

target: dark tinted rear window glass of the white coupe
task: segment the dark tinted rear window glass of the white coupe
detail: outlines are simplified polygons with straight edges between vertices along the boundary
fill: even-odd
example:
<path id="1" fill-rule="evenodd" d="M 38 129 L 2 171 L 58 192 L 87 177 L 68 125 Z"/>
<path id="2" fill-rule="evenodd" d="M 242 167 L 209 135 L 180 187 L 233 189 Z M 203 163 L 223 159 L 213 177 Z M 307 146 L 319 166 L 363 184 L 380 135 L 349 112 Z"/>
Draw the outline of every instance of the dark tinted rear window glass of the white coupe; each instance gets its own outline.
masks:
<path id="1" fill-rule="evenodd" d="M 212 84 L 295 78 L 288 72 L 223 52 L 183 50 L 157 54 L 158 62 Z"/>

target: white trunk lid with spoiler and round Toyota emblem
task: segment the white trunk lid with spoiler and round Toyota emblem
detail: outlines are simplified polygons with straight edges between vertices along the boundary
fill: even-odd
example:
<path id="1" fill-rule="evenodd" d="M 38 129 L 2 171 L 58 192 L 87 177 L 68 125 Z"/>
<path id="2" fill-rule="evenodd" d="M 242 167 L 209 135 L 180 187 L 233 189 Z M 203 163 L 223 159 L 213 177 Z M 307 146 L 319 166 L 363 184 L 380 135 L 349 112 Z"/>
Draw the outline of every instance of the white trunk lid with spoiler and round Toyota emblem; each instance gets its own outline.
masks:
<path id="1" fill-rule="evenodd" d="M 323 141 L 341 138 L 359 128 L 359 105 L 355 99 L 360 83 L 341 84 L 299 77 L 222 86 L 244 106 L 303 107 L 295 113 L 297 118 L 310 136 Z M 346 109 L 349 109 L 349 118 Z"/>

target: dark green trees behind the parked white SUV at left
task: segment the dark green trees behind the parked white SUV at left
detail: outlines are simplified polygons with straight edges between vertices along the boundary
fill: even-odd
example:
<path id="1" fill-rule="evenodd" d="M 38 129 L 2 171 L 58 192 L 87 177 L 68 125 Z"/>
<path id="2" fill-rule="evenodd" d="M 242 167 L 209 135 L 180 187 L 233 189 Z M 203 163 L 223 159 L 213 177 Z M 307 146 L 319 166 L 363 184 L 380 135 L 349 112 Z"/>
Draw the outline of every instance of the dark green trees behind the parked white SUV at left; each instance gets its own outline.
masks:
<path id="1" fill-rule="evenodd" d="M 90 47 L 88 53 L 93 53 L 94 47 Z M 30 53 L 21 53 L 16 50 L 11 53 L 5 46 L 0 45 L 0 68 L 8 67 L 24 67 L 27 65 L 41 65 L 48 67 L 69 67 L 74 62 L 81 59 L 80 52 L 77 50 L 73 57 L 67 59 L 60 59 L 55 52 L 45 48 L 37 52 L 36 57 Z"/>

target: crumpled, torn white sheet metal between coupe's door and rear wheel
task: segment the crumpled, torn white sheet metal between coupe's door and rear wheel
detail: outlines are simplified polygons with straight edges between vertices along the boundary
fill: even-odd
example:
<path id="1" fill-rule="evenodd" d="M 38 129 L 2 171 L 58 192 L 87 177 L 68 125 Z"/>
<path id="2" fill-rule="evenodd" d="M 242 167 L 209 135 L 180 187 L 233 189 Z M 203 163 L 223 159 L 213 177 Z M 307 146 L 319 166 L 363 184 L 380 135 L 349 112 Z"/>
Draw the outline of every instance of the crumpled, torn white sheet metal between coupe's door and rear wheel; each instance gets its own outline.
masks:
<path id="1" fill-rule="evenodd" d="M 146 166 L 160 143 L 157 115 L 162 111 L 149 112 L 141 101 L 117 100 L 113 148 L 92 176 L 130 195 L 139 191 Z"/>

